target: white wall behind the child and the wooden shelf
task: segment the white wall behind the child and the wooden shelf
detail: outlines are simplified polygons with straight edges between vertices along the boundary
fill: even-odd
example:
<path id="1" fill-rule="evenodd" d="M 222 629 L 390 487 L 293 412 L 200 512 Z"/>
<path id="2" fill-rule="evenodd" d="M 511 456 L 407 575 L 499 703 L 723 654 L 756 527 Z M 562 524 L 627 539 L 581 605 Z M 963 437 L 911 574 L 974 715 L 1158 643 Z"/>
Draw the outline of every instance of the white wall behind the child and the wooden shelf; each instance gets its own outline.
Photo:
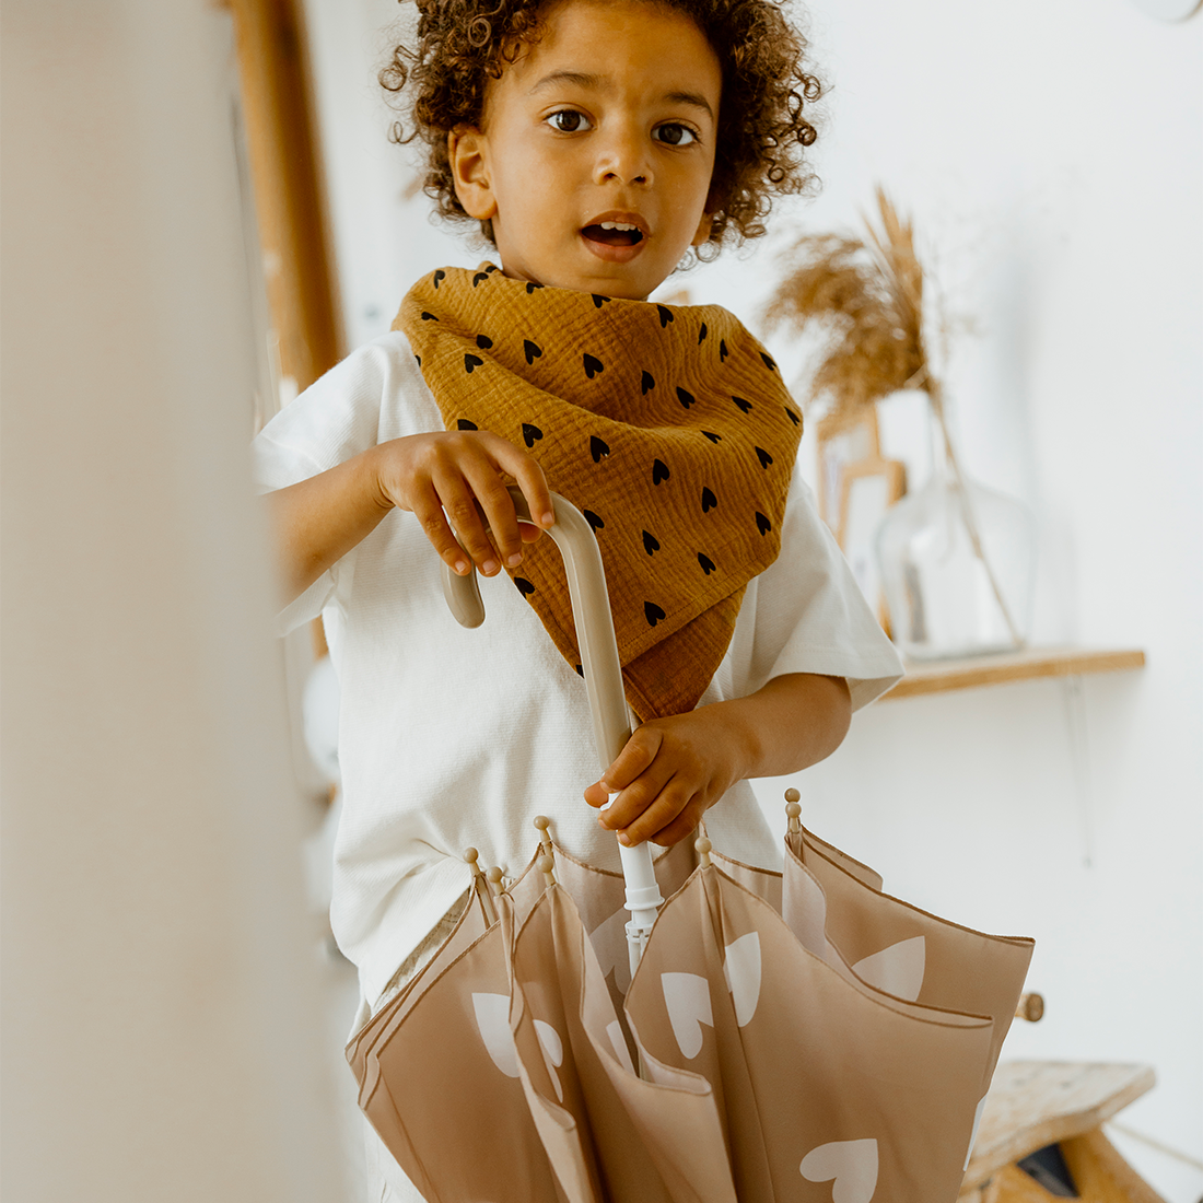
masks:
<path id="1" fill-rule="evenodd" d="M 421 271 L 476 256 L 432 230 L 422 197 L 399 200 L 373 82 L 396 6 L 308 8 L 362 339 Z M 966 462 L 1038 516 L 1037 639 L 1140 646 L 1149 666 L 1085 681 L 1085 781 L 1062 685 L 888 703 L 799 782 L 807 822 L 921 905 L 1035 935 L 1048 1017 L 1017 1024 L 1006 1055 L 1150 1062 L 1160 1085 L 1125 1120 L 1203 1161 L 1203 16 L 1162 24 L 1130 0 L 811 10 L 832 85 L 825 188 L 780 207 L 778 239 L 854 225 L 878 180 L 914 214 L 949 313 L 977 326 L 947 373 Z M 754 324 L 774 245 L 669 288 Z M 807 442 L 807 470 L 811 456 Z M 782 784 L 761 790 L 775 816 Z M 1203 1172 L 1124 1149 L 1171 1203 L 1203 1195 Z"/>

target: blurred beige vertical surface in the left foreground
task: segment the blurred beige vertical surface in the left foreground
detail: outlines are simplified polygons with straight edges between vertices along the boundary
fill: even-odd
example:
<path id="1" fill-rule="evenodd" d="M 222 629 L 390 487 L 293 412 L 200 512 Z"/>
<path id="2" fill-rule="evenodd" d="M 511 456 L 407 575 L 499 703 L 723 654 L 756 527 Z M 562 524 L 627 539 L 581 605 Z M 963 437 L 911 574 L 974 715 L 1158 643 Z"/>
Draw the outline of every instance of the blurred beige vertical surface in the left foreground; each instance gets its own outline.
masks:
<path id="1" fill-rule="evenodd" d="M 331 1203 L 230 18 L 0 6 L 0 1195 Z"/>

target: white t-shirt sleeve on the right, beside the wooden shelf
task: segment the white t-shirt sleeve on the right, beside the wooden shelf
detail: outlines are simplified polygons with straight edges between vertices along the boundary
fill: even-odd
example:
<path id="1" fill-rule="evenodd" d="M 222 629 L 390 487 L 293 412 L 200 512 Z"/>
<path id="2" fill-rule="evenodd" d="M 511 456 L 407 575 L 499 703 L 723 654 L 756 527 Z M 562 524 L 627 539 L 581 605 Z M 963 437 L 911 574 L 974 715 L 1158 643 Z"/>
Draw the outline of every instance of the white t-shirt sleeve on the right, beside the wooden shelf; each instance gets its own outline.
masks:
<path id="1" fill-rule="evenodd" d="M 902 676 L 894 645 L 796 469 L 781 552 L 749 583 L 748 593 L 735 635 L 746 674 L 741 693 L 754 693 L 786 672 L 818 672 L 845 677 L 853 710 L 859 710 Z"/>

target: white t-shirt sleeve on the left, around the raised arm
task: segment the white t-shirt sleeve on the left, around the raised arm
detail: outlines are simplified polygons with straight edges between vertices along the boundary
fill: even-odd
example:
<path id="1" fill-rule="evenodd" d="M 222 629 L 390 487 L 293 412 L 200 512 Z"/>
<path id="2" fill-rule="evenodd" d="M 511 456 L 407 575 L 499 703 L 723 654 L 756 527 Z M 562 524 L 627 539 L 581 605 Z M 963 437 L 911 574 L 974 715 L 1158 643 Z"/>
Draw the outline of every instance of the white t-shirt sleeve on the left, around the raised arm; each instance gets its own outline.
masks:
<path id="1" fill-rule="evenodd" d="M 414 429 L 392 429 L 407 404 L 415 411 Z M 409 343 L 403 334 L 385 334 L 352 351 L 260 431 L 251 443 L 255 488 L 260 493 L 286 488 L 345 463 L 384 438 L 434 428 L 432 405 Z M 348 552 L 285 606 L 277 615 L 280 634 L 348 595 L 355 559 L 355 550 Z"/>

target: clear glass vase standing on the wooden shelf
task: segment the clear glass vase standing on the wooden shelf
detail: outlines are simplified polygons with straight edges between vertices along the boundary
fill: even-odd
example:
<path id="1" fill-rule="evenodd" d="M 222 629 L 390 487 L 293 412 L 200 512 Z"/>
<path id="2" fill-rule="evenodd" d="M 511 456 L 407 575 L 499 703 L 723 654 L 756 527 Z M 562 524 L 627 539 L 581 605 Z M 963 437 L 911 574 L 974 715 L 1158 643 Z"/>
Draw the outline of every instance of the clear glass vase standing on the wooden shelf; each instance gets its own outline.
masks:
<path id="1" fill-rule="evenodd" d="M 1031 514 L 968 480 L 943 446 L 932 462 L 928 484 L 891 506 L 877 531 L 894 642 L 917 660 L 1023 647 L 1036 564 Z"/>

